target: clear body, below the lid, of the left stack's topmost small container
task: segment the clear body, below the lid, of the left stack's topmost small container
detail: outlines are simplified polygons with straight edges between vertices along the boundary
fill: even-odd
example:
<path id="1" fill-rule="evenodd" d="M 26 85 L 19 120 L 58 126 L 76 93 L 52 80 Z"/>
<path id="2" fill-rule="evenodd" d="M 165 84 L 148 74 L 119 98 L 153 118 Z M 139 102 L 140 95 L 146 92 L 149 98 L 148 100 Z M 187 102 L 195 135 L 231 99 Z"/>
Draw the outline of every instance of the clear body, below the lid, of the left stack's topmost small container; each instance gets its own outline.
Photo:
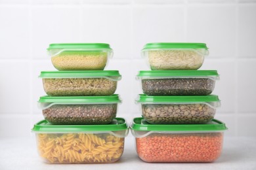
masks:
<path id="1" fill-rule="evenodd" d="M 49 55 L 59 71 L 104 70 L 112 51 L 50 50 Z"/>

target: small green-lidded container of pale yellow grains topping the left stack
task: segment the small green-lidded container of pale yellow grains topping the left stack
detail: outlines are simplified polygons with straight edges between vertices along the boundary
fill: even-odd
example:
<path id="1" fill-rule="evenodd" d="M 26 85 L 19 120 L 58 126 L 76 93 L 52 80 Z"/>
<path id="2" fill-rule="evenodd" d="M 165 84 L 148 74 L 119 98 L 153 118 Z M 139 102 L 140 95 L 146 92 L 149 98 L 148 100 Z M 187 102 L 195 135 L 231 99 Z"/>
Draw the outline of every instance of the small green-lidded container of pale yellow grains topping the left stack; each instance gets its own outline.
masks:
<path id="1" fill-rule="evenodd" d="M 60 71 L 104 70 L 113 51 L 109 44 L 65 43 L 47 48 L 53 66 Z"/>

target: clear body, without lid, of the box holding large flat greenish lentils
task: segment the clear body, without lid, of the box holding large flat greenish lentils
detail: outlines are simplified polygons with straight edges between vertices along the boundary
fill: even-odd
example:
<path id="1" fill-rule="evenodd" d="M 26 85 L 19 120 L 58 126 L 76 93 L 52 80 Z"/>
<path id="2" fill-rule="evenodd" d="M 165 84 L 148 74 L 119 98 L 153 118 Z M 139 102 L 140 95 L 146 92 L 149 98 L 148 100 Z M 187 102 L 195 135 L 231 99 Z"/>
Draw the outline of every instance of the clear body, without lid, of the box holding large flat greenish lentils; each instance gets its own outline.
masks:
<path id="1" fill-rule="evenodd" d="M 142 104 L 142 116 L 150 124 L 205 124 L 216 109 L 206 103 Z"/>

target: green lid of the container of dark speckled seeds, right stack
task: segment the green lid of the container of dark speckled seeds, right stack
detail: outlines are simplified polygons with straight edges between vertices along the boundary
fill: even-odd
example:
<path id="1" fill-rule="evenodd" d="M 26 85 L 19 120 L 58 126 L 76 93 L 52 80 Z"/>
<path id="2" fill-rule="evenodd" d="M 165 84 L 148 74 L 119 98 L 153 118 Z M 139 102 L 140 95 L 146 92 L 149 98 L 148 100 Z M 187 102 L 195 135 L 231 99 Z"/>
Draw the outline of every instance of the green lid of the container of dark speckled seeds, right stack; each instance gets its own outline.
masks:
<path id="1" fill-rule="evenodd" d="M 219 78 L 216 70 L 170 70 L 170 71 L 139 71 L 138 78 L 150 77 L 208 77 Z"/>

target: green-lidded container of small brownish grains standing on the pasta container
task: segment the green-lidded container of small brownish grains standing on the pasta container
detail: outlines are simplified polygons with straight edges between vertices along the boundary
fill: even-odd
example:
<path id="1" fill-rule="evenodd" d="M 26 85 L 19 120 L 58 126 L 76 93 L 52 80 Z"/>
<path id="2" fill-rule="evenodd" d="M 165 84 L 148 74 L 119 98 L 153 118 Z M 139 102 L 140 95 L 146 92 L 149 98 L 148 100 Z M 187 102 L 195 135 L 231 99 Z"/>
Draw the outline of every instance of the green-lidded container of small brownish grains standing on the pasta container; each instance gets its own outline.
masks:
<path id="1" fill-rule="evenodd" d="M 54 125 L 109 124 L 116 118 L 119 95 L 42 96 L 38 101 L 45 120 Z"/>

